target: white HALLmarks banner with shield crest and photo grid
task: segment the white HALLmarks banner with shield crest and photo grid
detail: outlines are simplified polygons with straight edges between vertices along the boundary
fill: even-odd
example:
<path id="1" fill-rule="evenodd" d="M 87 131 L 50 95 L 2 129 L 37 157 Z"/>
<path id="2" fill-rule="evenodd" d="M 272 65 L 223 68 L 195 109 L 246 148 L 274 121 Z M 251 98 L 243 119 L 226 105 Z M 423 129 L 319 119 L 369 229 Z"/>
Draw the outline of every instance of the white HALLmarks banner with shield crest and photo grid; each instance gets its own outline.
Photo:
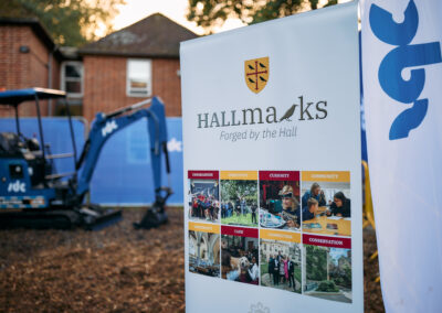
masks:
<path id="1" fill-rule="evenodd" d="M 357 3 L 181 44 L 188 312 L 362 312 Z"/>

